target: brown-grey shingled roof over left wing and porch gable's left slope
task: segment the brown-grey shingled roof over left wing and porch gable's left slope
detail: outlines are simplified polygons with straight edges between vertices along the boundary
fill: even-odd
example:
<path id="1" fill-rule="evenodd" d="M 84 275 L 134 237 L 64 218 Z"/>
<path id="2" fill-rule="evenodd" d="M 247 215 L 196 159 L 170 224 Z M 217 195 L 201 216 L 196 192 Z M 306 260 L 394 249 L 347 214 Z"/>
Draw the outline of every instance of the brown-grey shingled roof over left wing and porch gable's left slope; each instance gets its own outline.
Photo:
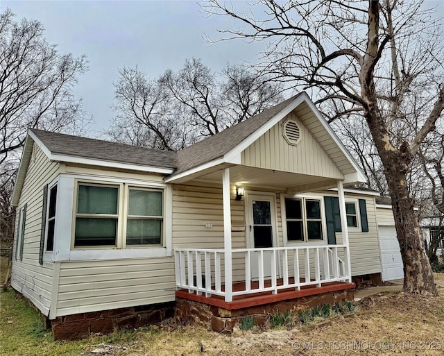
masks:
<path id="1" fill-rule="evenodd" d="M 31 129 L 31 132 L 53 154 L 176 169 L 174 172 L 176 174 L 221 158 L 266 124 L 268 120 L 287 108 L 287 105 L 296 97 L 297 95 L 177 153 L 37 129 Z"/>

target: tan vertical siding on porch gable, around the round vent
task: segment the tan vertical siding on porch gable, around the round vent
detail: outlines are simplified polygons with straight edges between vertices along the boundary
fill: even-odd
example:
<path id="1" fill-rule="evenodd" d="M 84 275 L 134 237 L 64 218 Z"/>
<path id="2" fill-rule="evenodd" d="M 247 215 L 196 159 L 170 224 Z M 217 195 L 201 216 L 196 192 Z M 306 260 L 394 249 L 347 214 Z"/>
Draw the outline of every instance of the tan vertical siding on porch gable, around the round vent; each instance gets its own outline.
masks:
<path id="1" fill-rule="evenodd" d="M 282 123 L 287 119 L 296 121 L 300 128 L 301 138 L 297 146 L 288 144 L 282 135 Z M 310 176 L 343 178 L 334 162 L 293 113 L 248 146 L 241 153 L 241 164 Z"/>

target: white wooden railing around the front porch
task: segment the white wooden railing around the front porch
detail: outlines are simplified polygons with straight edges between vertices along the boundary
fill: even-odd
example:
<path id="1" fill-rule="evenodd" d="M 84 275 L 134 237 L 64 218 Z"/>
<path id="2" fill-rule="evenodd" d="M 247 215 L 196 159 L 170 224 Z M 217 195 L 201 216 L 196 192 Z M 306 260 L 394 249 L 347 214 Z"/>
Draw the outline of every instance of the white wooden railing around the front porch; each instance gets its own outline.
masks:
<path id="1" fill-rule="evenodd" d="M 210 248 L 175 248 L 176 288 L 198 296 L 232 296 L 350 280 L 347 246 L 291 246 L 232 250 L 232 280 L 237 289 L 225 294 L 225 251 Z M 252 264 L 255 266 L 252 269 Z M 237 283 L 241 282 L 241 283 Z M 240 288 L 240 290 L 239 290 Z M 228 292 L 230 293 L 230 292 Z M 228 298 L 227 298 L 228 297 Z"/>

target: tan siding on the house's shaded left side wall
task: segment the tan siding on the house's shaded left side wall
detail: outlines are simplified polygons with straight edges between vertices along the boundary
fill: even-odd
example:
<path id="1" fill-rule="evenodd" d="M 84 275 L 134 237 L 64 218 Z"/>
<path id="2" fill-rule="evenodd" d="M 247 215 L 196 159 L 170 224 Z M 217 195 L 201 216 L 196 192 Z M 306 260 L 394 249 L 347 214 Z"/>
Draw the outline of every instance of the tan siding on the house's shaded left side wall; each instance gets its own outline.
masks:
<path id="1" fill-rule="evenodd" d="M 42 229 L 43 187 L 59 173 L 59 164 L 50 162 L 43 151 L 33 145 L 17 212 L 26 208 L 26 226 L 22 261 L 12 260 L 11 285 L 30 299 L 45 315 L 49 314 L 53 284 L 53 264 L 39 264 L 40 233 Z M 16 221 L 16 231 L 17 231 Z M 17 234 L 15 234 L 17 239 Z M 15 250 L 15 241 L 14 241 Z"/>

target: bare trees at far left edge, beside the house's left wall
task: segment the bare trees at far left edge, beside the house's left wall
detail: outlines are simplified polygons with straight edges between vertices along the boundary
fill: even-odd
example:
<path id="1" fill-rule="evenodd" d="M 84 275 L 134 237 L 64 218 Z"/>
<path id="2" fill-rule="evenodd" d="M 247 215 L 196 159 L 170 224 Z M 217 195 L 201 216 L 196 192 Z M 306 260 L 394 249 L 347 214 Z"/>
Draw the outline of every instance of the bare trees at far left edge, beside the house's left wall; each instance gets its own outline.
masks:
<path id="1" fill-rule="evenodd" d="M 28 128 L 81 132 L 89 117 L 71 92 L 85 58 L 61 55 L 40 22 L 0 14 L 0 237 L 12 241 L 13 180 Z"/>

